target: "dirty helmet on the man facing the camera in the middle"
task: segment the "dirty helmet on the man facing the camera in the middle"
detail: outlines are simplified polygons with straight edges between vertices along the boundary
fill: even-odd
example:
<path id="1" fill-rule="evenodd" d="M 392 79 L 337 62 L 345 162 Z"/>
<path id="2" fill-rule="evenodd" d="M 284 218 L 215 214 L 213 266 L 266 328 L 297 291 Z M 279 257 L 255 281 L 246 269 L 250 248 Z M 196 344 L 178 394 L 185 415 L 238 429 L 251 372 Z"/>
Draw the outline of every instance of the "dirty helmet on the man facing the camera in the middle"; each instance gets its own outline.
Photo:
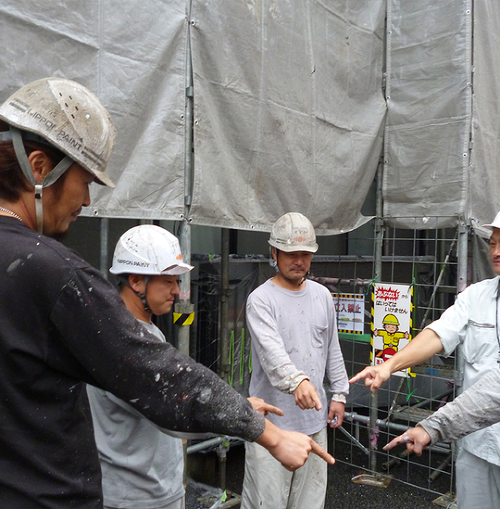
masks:
<path id="1" fill-rule="evenodd" d="M 289 212 L 282 215 L 273 225 L 271 246 L 281 251 L 309 251 L 316 252 L 316 233 L 311 221 L 299 212 Z"/>

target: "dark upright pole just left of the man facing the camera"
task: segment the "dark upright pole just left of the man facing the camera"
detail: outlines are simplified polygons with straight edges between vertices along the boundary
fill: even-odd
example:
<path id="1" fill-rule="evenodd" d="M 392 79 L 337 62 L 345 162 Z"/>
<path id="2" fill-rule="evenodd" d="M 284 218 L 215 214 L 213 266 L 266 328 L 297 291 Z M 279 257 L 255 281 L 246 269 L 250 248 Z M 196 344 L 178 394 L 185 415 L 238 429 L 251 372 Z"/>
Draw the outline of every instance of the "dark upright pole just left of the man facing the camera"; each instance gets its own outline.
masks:
<path id="1" fill-rule="evenodd" d="M 221 326 L 219 339 L 219 376 L 226 379 L 229 365 L 229 229 L 221 229 Z M 227 380 L 226 380 L 227 381 Z"/>

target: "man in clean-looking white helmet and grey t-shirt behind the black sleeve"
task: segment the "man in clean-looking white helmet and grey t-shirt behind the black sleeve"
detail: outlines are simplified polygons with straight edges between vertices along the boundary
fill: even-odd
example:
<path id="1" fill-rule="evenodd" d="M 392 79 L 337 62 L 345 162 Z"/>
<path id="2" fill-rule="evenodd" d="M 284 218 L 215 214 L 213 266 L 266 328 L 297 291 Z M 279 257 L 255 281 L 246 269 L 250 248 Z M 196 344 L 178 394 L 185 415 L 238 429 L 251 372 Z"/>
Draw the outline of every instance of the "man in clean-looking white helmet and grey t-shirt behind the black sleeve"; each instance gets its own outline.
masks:
<path id="1" fill-rule="evenodd" d="M 134 226 L 118 239 L 113 266 L 128 310 L 162 343 L 151 321 L 171 310 L 179 277 L 193 269 L 179 241 L 153 224 Z M 182 440 L 158 429 L 113 394 L 87 386 L 102 470 L 105 508 L 184 509 Z"/>

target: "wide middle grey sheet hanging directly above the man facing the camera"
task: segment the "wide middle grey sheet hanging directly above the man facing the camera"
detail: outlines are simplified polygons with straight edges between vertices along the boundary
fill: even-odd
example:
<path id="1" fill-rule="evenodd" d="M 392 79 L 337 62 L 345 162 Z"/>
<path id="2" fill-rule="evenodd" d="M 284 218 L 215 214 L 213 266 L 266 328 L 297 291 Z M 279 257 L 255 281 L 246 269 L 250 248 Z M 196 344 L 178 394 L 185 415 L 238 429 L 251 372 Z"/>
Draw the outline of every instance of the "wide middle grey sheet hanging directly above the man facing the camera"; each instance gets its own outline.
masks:
<path id="1" fill-rule="evenodd" d="M 382 147 L 384 1 L 193 1 L 197 224 L 352 230 Z"/>

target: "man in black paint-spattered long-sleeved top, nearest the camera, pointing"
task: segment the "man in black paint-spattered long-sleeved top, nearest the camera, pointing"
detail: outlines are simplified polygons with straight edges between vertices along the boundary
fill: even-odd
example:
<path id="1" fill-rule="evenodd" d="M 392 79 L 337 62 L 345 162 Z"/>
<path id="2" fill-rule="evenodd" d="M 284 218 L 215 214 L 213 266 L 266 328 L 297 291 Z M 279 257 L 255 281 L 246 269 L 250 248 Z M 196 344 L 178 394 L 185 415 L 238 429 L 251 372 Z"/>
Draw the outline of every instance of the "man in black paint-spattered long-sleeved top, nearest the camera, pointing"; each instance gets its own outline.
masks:
<path id="1" fill-rule="evenodd" d="M 310 437 L 277 428 L 162 343 L 115 288 L 54 240 L 89 206 L 116 133 L 98 98 L 43 78 L 0 105 L 0 507 L 102 507 L 85 383 L 166 429 L 257 441 L 292 470 Z"/>

